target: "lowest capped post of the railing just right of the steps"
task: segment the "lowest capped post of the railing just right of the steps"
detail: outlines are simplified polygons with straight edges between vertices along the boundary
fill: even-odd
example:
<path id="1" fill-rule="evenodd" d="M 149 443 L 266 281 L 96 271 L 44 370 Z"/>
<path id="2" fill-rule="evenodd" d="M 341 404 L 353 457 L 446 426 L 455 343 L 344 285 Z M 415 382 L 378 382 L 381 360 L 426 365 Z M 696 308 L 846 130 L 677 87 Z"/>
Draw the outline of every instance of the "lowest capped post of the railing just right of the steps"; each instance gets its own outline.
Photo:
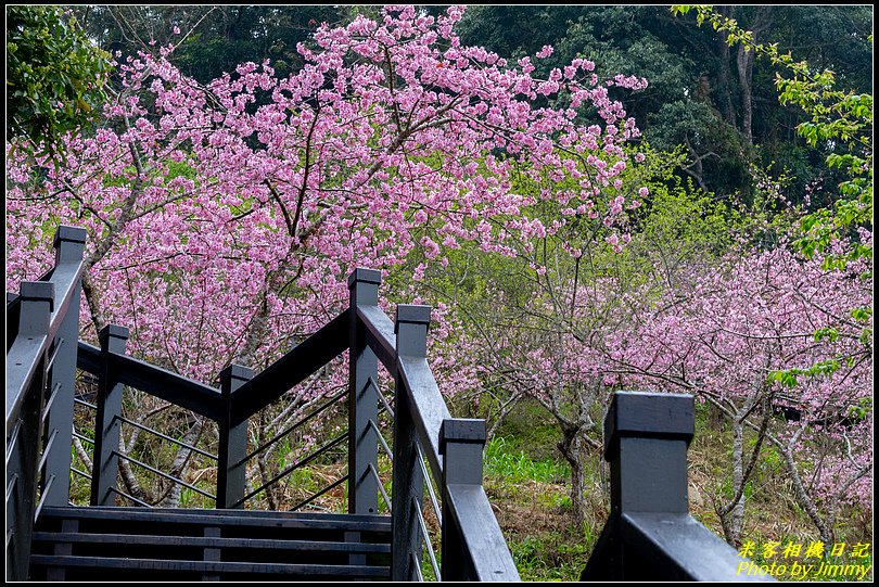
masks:
<path id="1" fill-rule="evenodd" d="M 451 511 L 451 485 L 482 485 L 485 420 L 444 420 L 440 429 L 443 455 L 443 580 L 474 580 L 470 553 Z"/>

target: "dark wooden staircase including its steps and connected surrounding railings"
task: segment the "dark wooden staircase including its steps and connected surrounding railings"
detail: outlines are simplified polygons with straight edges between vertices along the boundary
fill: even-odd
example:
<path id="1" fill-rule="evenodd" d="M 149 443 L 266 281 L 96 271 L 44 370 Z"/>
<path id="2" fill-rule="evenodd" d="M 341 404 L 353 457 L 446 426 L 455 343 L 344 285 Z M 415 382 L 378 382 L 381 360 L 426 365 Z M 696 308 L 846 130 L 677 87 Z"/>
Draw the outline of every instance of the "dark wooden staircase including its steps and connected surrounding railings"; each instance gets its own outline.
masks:
<path id="1" fill-rule="evenodd" d="M 353 271 L 347 308 L 259 373 L 229 365 L 216 388 L 127 355 L 122 326 L 98 333 L 100 348 L 78 341 L 86 231 L 60 227 L 54 244 L 55 266 L 7 293 L 7 580 L 519 580 L 482 486 L 485 421 L 451 417 L 426 357 L 431 309 L 398 305 L 392 321 L 379 306 L 380 271 Z M 347 388 L 253 446 L 250 420 L 344 354 Z M 380 366 L 393 395 L 380 388 Z M 126 418 L 131 390 L 203 418 L 211 441 L 195 446 Z M 347 430 L 318 430 L 309 455 L 249 481 L 264 451 L 324 425 L 317 417 L 330 409 Z M 215 488 L 120 448 L 123 426 L 205 459 Z M 84 469 L 72 461 L 75 439 L 91 447 Z M 294 511 L 258 510 L 260 493 L 317 459 L 346 461 L 346 471 L 284 503 Z M 123 460 L 205 509 L 154 508 L 127 493 Z M 72 475 L 89 481 L 89 507 L 81 492 L 72 501 Z M 302 511 L 343 485 L 348 513 Z"/>

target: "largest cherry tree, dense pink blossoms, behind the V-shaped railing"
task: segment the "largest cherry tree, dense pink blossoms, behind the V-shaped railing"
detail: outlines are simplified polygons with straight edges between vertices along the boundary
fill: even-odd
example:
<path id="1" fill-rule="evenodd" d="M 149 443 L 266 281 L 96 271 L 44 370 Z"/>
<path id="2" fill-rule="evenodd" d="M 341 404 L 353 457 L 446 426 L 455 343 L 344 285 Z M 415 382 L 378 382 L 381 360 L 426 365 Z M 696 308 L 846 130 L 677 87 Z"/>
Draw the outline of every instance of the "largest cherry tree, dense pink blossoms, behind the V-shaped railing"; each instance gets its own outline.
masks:
<path id="1" fill-rule="evenodd" d="M 461 243 L 512 255 L 578 215 L 615 226 L 638 130 L 610 92 L 646 82 L 585 59 L 537 78 L 551 48 L 508 63 L 464 47 L 462 10 L 321 25 L 284 77 L 245 63 L 199 84 L 173 46 L 118 64 L 105 122 L 66 138 L 64 165 L 7 145 L 8 289 L 49 266 L 53 227 L 81 226 L 82 335 L 128 326 L 129 353 L 211 382 L 340 311 L 356 266 L 388 276 L 417 254 L 419 278 Z M 544 204 L 568 216 L 547 225 Z"/>

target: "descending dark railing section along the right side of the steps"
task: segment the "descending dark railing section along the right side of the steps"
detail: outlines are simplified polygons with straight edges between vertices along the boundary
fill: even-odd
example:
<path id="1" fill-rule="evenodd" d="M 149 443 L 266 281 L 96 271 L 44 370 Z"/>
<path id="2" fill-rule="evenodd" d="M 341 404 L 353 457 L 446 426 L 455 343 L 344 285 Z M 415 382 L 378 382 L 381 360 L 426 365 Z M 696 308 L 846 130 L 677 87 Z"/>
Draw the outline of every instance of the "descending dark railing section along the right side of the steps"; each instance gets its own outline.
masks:
<path id="1" fill-rule="evenodd" d="M 482 487 L 485 421 L 449 414 L 426 359 L 426 306 L 397 306 L 392 322 L 378 306 L 380 273 L 357 269 L 351 289 L 349 511 L 377 510 L 378 406 L 394 416 L 393 580 L 420 578 L 422 545 L 436 564 L 422 515 L 428 476 L 440 486 L 442 575 L 445 580 L 519 580 L 500 526 Z M 391 408 L 378 386 L 379 362 L 394 377 Z M 426 468 L 424 467 L 426 461 Z M 426 469 L 426 470 L 425 470 Z"/>

